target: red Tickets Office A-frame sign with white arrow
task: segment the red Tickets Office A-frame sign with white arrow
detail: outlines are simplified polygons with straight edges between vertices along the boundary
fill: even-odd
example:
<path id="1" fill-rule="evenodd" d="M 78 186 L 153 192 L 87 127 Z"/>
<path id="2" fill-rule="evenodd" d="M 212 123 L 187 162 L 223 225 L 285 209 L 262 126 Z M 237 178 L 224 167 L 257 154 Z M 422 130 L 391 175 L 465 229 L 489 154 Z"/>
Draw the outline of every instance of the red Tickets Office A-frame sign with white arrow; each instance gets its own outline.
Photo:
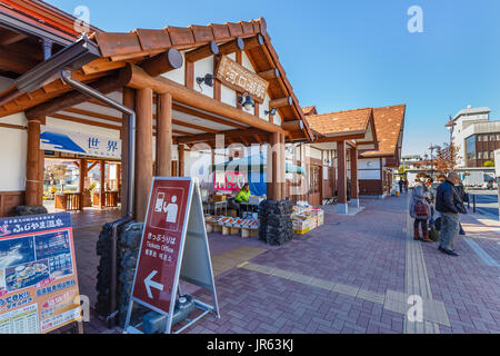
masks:
<path id="1" fill-rule="evenodd" d="M 204 312 L 196 320 L 209 313 L 219 318 L 199 184 L 189 177 L 154 177 L 124 333 L 142 333 L 130 325 L 137 303 L 166 316 L 164 333 L 170 334 L 177 297 L 181 294 L 180 280 L 212 291 L 212 306 L 194 300 L 196 307 Z"/>

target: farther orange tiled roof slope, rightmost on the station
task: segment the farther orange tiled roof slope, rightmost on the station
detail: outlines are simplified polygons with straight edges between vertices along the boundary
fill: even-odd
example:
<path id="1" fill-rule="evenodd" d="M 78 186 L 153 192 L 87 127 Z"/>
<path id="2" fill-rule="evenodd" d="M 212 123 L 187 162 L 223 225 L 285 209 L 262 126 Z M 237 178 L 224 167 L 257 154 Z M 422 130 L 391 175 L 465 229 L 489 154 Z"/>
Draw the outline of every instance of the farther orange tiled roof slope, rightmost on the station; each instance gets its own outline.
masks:
<path id="1" fill-rule="evenodd" d="M 406 105 L 373 109 L 379 149 L 377 151 L 362 152 L 361 156 L 373 157 L 397 155 L 398 141 L 404 127 L 406 110 Z"/>

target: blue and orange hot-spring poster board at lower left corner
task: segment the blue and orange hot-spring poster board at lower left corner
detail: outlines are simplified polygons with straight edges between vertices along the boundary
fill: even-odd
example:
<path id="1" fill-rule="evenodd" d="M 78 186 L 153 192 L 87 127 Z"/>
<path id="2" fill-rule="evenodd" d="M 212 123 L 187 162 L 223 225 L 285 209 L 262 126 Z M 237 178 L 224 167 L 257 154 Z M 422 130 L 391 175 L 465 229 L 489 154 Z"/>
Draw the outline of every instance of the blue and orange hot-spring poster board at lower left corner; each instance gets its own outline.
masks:
<path id="1" fill-rule="evenodd" d="M 47 334 L 81 320 L 71 216 L 0 219 L 0 334 Z"/>

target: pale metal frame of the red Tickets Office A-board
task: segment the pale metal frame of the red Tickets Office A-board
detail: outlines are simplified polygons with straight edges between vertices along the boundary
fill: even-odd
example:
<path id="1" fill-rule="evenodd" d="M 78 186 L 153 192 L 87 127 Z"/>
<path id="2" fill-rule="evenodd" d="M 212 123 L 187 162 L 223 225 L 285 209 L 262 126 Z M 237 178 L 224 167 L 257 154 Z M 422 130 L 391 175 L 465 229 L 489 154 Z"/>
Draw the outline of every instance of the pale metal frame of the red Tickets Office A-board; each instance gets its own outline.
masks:
<path id="1" fill-rule="evenodd" d="M 186 211 L 183 214 L 183 221 L 182 222 L 182 233 L 181 233 L 181 240 L 180 240 L 180 245 L 179 245 L 179 253 L 177 256 L 177 261 L 176 261 L 176 273 L 174 273 L 174 278 L 173 278 L 173 286 L 172 286 L 172 290 L 171 290 L 171 295 L 170 295 L 170 306 L 169 306 L 169 310 L 166 312 L 154 305 L 152 305 L 152 303 L 148 303 L 142 300 L 141 298 L 138 298 L 137 296 L 134 296 L 136 293 L 136 286 L 137 286 L 137 281 L 138 281 L 138 270 L 140 268 L 141 265 L 141 255 L 142 255 L 142 250 L 144 248 L 144 240 L 146 240 L 146 231 L 147 231 L 147 226 L 146 224 L 149 224 L 150 221 L 150 208 L 151 208 L 151 204 L 153 201 L 153 194 L 154 194 L 154 187 L 157 187 L 156 182 L 161 182 L 161 181 L 182 181 L 182 182 L 189 182 L 189 191 L 188 191 L 188 196 L 187 196 L 187 201 L 186 201 Z M 188 254 L 186 254 L 186 243 L 188 238 L 196 238 L 193 236 L 190 236 L 192 233 L 190 233 L 190 235 L 188 235 L 189 231 L 189 226 L 190 226 L 190 220 L 191 219 L 196 219 L 198 222 L 201 222 L 201 225 L 199 225 L 199 227 L 201 228 L 201 233 L 197 234 L 198 238 L 203 239 L 204 241 L 204 246 L 202 246 L 203 250 L 198 250 L 198 251 L 192 251 L 191 249 L 188 250 Z M 191 222 L 194 224 L 194 222 Z M 201 283 L 199 280 L 197 280 L 196 276 L 182 276 L 182 270 L 183 270 L 183 264 L 187 260 L 191 260 L 191 261 L 200 261 L 200 258 L 189 258 L 190 254 L 203 254 L 204 255 L 204 261 L 206 261 L 206 266 L 198 266 L 198 267 L 204 267 L 206 271 L 209 273 L 209 283 L 204 284 Z M 198 256 L 199 257 L 199 256 Z M 203 257 L 203 256 L 202 256 Z M 149 275 L 151 277 L 151 275 Z M 152 275 L 154 277 L 154 275 Z M 133 277 L 133 284 L 132 284 L 132 290 L 131 290 L 131 295 L 130 295 L 130 299 L 129 299 L 129 308 L 128 308 L 128 313 L 127 313 L 127 320 L 126 320 L 126 325 L 124 325 L 124 330 L 123 333 L 126 334 L 143 334 L 138 326 L 131 326 L 130 325 L 130 320 L 131 320 L 131 316 L 132 316 L 132 309 L 133 309 L 133 304 L 137 303 L 139 305 L 142 305 L 164 317 L 167 317 L 167 326 L 166 326 L 166 330 L 164 334 L 171 334 L 171 329 L 172 329 L 172 317 L 174 314 L 174 309 L 176 309 L 176 301 L 177 301 L 177 296 L 181 294 L 181 288 L 180 288 L 180 280 L 184 280 L 194 285 L 198 285 L 200 287 L 203 287 L 206 289 L 209 289 L 212 291 L 213 295 L 213 306 L 207 305 L 200 300 L 194 299 L 194 305 L 198 309 L 203 310 L 204 313 L 202 313 L 199 317 L 197 317 L 196 319 L 189 322 L 187 325 L 184 325 L 181 329 L 177 330 L 176 334 L 179 334 L 180 332 L 182 332 L 183 329 L 188 328 L 189 326 L 191 326 L 193 323 L 198 322 L 199 319 L 201 319 L 203 316 L 208 315 L 209 313 L 213 313 L 216 315 L 216 318 L 220 318 L 220 314 L 219 314 L 219 304 L 218 304 L 218 299 L 217 299 L 217 291 L 216 291 L 216 284 L 214 284 L 214 276 L 213 276 L 213 268 L 212 268 L 212 263 L 211 263 L 211 257 L 210 257 L 210 248 L 209 248 L 209 244 L 208 244 L 208 236 L 207 236 L 207 229 L 206 229 L 206 225 L 204 225 L 204 216 L 203 216 L 203 210 L 202 210 L 202 201 L 201 201 L 201 192 L 200 192 L 200 187 L 199 187 L 199 182 L 197 179 L 193 179 L 191 177 L 154 177 L 151 184 L 151 191 L 150 191 L 150 196 L 149 196 L 149 201 L 148 201 L 148 209 L 147 209 L 147 216 L 146 216 L 146 222 L 144 222 L 144 228 L 142 230 L 142 238 L 141 238 L 141 244 L 140 244 L 140 248 L 139 248 L 139 256 L 138 256 L 138 260 L 137 260 L 137 266 L 136 266 L 136 271 L 134 271 L 134 277 Z M 146 283 L 146 279 L 144 279 Z M 164 288 L 163 285 L 161 285 L 162 288 Z"/>

